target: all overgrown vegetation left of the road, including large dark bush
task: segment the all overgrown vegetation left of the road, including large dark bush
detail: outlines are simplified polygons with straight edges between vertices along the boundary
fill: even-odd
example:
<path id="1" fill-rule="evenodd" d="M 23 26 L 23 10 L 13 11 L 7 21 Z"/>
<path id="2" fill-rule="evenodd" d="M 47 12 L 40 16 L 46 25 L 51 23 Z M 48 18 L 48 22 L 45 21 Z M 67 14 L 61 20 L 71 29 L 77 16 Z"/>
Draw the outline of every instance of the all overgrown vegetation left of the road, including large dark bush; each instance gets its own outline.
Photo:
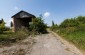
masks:
<path id="1" fill-rule="evenodd" d="M 10 23 L 13 27 L 13 23 Z M 47 25 L 41 17 L 34 18 L 28 28 L 20 28 L 17 32 L 12 32 L 9 27 L 5 26 L 2 19 L 0 23 L 0 45 L 9 45 L 26 38 L 29 35 L 35 35 L 47 32 Z"/>

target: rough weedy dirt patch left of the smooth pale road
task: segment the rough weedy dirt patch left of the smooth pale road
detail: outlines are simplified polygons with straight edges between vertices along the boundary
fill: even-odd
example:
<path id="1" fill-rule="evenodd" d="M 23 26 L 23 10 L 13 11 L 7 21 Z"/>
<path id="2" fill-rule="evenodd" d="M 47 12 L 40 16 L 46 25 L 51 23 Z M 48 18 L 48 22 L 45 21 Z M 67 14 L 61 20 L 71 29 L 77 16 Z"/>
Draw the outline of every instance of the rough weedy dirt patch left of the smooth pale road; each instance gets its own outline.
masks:
<path id="1" fill-rule="evenodd" d="M 12 46 L 5 46 L 0 48 L 0 55 L 25 55 L 30 53 L 34 41 L 32 37 L 28 37 Z"/>

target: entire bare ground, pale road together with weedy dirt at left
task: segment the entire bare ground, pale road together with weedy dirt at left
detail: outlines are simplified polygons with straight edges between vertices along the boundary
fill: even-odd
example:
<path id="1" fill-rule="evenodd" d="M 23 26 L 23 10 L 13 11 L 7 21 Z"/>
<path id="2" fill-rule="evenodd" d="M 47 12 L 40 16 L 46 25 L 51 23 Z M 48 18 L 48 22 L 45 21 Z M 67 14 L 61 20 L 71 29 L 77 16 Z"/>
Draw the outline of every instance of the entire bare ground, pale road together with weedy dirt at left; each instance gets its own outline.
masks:
<path id="1" fill-rule="evenodd" d="M 55 33 L 37 35 L 35 41 L 32 38 L 0 48 L 0 55 L 83 55 L 74 45 Z M 36 43 L 32 45 L 31 42 Z"/>

